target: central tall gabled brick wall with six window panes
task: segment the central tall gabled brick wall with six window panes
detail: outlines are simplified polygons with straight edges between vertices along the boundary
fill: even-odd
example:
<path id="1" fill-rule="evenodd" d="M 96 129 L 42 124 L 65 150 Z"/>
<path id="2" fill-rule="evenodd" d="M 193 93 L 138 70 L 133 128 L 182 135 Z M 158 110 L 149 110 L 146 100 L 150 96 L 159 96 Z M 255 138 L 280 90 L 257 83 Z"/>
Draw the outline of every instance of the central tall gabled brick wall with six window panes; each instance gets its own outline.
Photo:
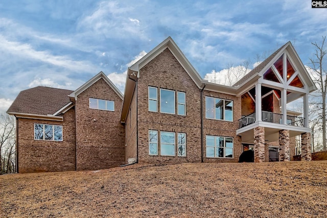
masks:
<path id="1" fill-rule="evenodd" d="M 160 88 L 183 91 L 186 95 L 186 116 L 149 112 L 148 86 L 158 88 L 158 111 L 160 111 Z M 140 70 L 138 91 L 138 158 L 139 162 L 182 163 L 201 161 L 201 109 L 200 89 L 166 49 Z M 177 98 L 175 98 L 177 106 Z M 158 130 L 158 156 L 149 155 L 149 130 Z M 186 133 L 186 157 L 160 156 L 160 131 Z M 177 154 L 177 137 L 176 154 Z"/>

